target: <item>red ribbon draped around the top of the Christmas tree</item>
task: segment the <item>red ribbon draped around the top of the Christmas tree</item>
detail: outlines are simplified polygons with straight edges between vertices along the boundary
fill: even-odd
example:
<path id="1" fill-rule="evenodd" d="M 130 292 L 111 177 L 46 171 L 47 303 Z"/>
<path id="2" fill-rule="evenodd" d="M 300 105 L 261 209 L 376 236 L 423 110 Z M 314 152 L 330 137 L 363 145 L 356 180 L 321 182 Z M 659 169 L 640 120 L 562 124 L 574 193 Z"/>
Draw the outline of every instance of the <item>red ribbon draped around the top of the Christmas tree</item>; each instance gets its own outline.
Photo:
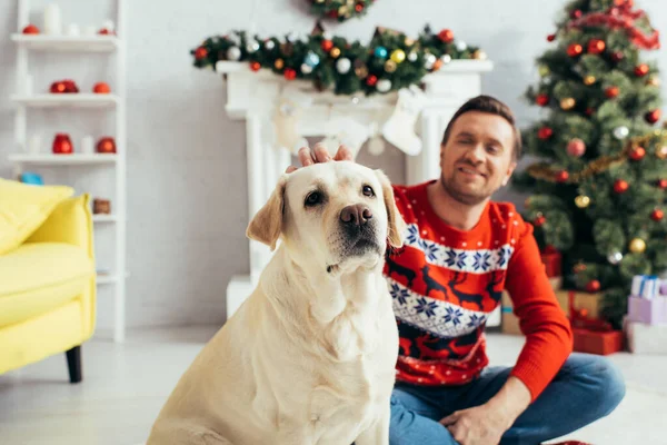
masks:
<path id="1" fill-rule="evenodd" d="M 644 10 L 633 11 L 634 1 L 626 0 L 620 6 L 609 8 L 607 12 L 591 12 L 575 19 L 570 28 L 607 26 L 611 29 L 625 29 L 633 44 L 640 49 L 659 49 L 660 33 L 654 29 L 650 34 L 645 34 L 635 26 L 635 21 L 646 17 Z"/>

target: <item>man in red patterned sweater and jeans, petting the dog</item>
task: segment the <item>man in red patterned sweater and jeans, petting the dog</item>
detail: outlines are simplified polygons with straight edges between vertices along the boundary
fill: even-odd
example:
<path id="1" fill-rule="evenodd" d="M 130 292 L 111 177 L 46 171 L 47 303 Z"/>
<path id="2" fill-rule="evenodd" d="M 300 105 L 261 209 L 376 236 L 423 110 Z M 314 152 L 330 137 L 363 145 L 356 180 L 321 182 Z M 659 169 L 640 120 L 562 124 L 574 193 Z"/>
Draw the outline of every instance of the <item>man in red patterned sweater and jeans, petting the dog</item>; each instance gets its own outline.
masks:
<path id="1" fill-rule="evenodd" d="M 625 395 L 607 359 L 573 353 L 532 226 L 490 200 L 520 151 L 509 108 L 479 96 L 445 131 L 440 178 L 394 187 L 407 231 L 385 267 L 400 336 L 392 445 L 540 444 L 608 415 Z M 299 159 L 352 156 L 316 146 Z M 489 368 L 484 329 L 504 289 L 526 343 L 514 367 Z"/>

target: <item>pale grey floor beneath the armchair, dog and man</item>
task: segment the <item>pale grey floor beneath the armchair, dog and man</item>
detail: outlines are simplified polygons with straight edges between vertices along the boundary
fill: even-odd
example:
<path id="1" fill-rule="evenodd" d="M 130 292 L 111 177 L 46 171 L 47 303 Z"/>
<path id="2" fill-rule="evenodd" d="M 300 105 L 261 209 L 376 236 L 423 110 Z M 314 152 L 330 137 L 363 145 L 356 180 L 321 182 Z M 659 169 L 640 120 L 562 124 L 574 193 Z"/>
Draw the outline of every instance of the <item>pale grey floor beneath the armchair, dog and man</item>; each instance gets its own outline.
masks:
<path id="1" fill-rule="evenodd" d="M 216 328 L 132 332 L 84 345 L 84 382 L 69 385 L 64 355 L 0 375 L 1 445 L 137 445 L 185 368 Z M 494 365 L 511 365 L 522 338 L 489 335 Z M 667 356 L 616 354 L 628 393 L 610 416 L 568 436 L 593 444 L 667 444 Z"/>

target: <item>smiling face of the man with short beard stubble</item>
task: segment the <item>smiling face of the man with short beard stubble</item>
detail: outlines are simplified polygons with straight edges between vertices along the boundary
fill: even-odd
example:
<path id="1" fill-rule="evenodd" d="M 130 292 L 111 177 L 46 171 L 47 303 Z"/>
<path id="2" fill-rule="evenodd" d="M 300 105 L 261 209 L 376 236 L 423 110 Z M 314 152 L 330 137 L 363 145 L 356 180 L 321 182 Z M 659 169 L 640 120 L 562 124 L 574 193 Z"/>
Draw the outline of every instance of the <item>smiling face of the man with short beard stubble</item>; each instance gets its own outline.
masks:
<path id="1" fill-rule="evenodd" d="M 514 130 L 500 116 L 468 111 L 454 122 L 440 147 L 442 186 L 456 200 L 475 205 L 505 186 L 516 162 Z"/>

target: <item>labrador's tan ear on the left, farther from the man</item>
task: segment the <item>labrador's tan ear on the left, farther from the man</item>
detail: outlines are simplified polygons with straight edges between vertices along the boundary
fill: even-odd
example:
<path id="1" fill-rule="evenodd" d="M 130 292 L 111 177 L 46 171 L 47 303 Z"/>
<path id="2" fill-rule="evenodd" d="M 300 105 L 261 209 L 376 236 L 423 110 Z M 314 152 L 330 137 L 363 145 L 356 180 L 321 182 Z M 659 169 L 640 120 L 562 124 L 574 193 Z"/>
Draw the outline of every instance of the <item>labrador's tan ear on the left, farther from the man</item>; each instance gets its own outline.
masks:
<path id="1" fill-rule="evenodd" d="M 282 233 L 286 186 L 287 175 L 283 175 L 278 180 L 267 204 L 252 217 L 246 229 L 248 238 L 266 244 L 271 248 L 271 251 L 276 249 L 276 243 L 278 243 L 278 238 Z"/>

